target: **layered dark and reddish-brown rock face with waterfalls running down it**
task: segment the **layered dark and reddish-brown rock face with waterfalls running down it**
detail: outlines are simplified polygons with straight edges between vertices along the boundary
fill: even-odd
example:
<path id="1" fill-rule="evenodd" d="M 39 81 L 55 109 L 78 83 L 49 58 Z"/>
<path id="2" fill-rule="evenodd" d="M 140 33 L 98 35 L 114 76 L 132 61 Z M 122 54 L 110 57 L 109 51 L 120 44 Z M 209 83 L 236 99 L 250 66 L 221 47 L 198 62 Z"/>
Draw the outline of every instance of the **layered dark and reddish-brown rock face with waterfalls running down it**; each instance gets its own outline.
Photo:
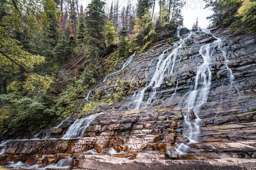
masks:
<path id="1" fill-rule="evenodd" d="M 163 40 L 121 71 L 120 64 L 88 97 L 119 95 L 121 102 L 100 108 L 102 114 L 79 127 L 70 126 L 81 119 L 74 114 L 39 133 L 40 139 L 3 141 L 0 163 L 35 169 L 255 169 L 256 36 L 183 32 L 181 41 Z M 67 132 L 76 139 L 64 138 Z"/>

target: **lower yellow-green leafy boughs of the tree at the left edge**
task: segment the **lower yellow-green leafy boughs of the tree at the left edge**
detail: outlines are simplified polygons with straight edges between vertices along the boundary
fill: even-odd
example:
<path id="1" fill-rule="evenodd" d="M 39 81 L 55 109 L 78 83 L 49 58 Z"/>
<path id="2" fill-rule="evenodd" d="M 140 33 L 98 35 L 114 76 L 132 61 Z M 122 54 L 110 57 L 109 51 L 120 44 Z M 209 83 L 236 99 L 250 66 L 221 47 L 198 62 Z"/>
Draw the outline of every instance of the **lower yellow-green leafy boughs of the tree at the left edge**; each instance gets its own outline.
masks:
<path id="1" fill-rule="evenodd" d="M 49 77 L 42 77 L 38 74 L 32 73 L 30 70 L 37 65 L 45 62 L 45 57 L 39 55 L 32 55 L 22 49 L 18 45 L 19 42 L 12 39 L 6 34 L 6 31 L 0 27 L 0 70 L 1 72 L 20 73 L 23 70 L 23 78 L 13 81 L 9 85 L 9 90 L 25 89 L 35 92 L 45 93 L 52 83 Z"/>

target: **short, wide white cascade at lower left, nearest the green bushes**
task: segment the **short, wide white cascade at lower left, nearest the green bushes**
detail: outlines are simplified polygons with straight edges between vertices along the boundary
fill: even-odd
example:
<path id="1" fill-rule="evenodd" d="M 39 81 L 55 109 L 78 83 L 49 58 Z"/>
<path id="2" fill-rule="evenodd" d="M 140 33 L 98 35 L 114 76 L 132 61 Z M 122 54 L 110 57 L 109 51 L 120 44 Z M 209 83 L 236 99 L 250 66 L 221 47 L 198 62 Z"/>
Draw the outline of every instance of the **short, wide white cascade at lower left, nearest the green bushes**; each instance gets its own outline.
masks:
<path id="1" fill-rule="evenodd" d="M 83 119 L 77 119 L 67 130 L 67 132 L 62 136 L 61 139 L 75 139 L 84 136 L 84 132 L 88 126 L 90 126 L 91 122 L 99 116 L 101 113 L 95 113 L 90 116 L 87 116 Z"/>

